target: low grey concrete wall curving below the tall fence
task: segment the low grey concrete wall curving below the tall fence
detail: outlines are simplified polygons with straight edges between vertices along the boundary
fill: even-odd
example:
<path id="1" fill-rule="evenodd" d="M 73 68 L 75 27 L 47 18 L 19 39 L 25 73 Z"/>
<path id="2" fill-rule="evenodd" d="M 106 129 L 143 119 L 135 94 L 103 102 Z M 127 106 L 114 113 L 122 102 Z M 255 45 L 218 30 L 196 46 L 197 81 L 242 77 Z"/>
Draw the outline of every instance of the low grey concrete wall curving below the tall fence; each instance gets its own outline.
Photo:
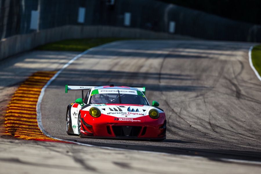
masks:
<path id="1" fill-rule="evenodd" d="M 40 30 L 30 34 L 14 35 L 0 41 L 0 60 L 31 50 L 37 46 L 64 39 L 119 37 L 133 39 L 190 39 L 190 37 L 171 35 L 163 32 L 153 32 L 138 28 L 113 26 L 79 26 Z"/>

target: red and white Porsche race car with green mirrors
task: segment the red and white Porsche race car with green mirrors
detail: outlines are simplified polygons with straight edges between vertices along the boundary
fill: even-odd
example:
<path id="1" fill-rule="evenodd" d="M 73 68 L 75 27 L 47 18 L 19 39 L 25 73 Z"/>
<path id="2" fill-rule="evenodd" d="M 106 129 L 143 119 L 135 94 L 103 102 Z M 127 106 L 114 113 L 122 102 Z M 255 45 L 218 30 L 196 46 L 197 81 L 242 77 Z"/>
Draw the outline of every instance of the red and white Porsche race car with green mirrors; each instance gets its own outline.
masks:
<path id="1" fill-rule="evenodd" d="M 92 138 L 166 139 L 166 116 L 159 103 L 152 106 L 145 87 L 66 85 L 81 90 L 82 98 L 67 106 L 68 135 Z M 84 90 L 88 90 L 84 97 Z"/>

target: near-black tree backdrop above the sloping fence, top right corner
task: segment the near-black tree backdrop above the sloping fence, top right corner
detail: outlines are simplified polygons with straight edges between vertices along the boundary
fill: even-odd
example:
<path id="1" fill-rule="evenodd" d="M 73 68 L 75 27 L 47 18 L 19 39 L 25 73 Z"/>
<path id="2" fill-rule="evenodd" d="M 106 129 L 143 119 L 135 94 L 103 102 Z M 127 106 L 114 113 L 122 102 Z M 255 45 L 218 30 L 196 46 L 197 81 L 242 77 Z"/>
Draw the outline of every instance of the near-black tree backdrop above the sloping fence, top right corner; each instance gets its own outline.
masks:
<path id="1" fill-rule="evenodd" d="M 261 24 L 261 0 L 158 0 L 233 20 Z"/>

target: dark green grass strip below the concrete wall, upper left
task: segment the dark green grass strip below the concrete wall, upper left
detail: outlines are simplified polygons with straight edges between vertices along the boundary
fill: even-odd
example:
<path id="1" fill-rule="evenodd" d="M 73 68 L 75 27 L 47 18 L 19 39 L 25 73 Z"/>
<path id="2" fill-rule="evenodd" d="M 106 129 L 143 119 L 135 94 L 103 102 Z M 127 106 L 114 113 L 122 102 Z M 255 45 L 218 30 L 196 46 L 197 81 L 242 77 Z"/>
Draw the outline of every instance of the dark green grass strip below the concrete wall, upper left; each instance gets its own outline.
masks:
<path id="1" fill-rule="evenodd" d="M 127 38 L 92 38 L 92 39 L 69 39 L 58 42 L 52 42 L 36 48 L 36 50 L 53 51 L 85 51 L 89 48 L 113 42 L 117 40 L 126 40 Z"/>

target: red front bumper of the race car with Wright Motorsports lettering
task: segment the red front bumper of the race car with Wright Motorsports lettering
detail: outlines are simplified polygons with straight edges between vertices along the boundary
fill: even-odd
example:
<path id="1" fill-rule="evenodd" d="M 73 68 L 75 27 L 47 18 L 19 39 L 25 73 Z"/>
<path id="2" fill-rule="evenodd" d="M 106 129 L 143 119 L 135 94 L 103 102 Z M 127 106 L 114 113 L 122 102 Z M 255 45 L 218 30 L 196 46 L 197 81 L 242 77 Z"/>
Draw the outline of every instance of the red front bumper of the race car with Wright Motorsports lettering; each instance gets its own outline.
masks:
<path id="1" fill-rule="evenodd" d="M 166 138 L 166 116 L 160 113 L 158 119 L 152 119 L 149 115 L 138 118 L 118 118 L 102 114 L 93 117 L 89 111 L 80 110 L 81 113 L 81 136 L 99 138 L 135 138 L 135 139 L 165 139 Z M 123 121 L 133 120 L 133 121 Z M 138 126 L 135 136 L 121 136 L 119 129 L 114 126 Z M 115 131 L 116 130 L 116 131 Z M 117 131 L 118 130 L 118 131 Z M 134 135 L 134 134 L 133 134 Z M 136 136 L 137 135 L 137 136 Z"/>

